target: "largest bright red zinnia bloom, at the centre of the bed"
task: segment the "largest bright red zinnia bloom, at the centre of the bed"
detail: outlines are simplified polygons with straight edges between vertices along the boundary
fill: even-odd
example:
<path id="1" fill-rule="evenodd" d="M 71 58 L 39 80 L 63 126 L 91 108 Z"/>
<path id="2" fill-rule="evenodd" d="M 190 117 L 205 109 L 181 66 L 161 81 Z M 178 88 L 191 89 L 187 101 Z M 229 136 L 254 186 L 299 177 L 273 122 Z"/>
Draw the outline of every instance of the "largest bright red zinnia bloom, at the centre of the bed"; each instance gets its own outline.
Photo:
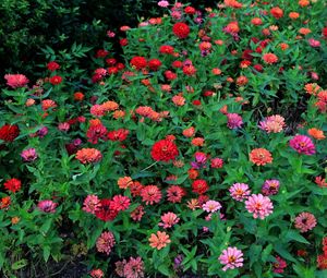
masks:
<path id="1" fill-rule="evenodd" d="M 170 140 L 160 140 L 156 142 L 152 149 L 152 157 L 156 161 L 174 160 L 179 155 L 177 145 Z"/>

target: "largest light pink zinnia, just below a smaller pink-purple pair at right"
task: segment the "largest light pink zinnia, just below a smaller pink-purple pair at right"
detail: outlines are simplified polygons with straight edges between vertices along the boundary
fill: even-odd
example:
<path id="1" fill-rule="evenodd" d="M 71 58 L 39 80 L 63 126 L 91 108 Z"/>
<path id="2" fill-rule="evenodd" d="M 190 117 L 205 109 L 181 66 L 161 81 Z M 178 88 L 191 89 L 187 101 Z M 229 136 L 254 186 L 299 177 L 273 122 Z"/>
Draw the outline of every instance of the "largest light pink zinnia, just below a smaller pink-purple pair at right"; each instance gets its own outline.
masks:
<path id="1" fill-rule="evenodd" d="M 269 197 L 262 194 L 252 194 L 245 201 L 245 207 L 249 213 L 253 214 L 254 218 L 265 219 L 272 214 L 272 203 Z"/>

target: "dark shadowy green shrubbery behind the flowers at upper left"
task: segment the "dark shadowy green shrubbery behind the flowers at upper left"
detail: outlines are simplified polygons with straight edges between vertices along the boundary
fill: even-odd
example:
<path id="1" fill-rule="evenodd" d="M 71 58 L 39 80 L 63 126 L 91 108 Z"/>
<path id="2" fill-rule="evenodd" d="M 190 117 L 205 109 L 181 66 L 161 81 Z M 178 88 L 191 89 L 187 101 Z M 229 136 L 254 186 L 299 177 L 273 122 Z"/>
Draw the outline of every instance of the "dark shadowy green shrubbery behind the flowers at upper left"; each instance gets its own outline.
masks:
<path id="1" fill-rule="evenodd" d="M 203 9 L 216 1 L 190 4 Z M 156 0 L 1 0 L 0 14 L 0 75 L 20 72 L 34 77 L 35 64 L 45 63 L 39 50 L 46 45 L 101 47 L 107 29 L 135 26 L 141 16 L 159 16 L 162 10 Z M 114 50 L 119 52 L 118 46 Z"/>

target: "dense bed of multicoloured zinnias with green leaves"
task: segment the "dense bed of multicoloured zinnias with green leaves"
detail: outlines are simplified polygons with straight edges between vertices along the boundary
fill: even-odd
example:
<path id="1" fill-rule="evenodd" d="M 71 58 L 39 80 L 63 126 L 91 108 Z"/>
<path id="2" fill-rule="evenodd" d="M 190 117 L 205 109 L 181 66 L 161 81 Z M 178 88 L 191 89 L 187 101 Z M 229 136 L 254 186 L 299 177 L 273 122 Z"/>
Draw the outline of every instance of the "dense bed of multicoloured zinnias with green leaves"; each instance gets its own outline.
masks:
<path id="1" fill-rule="evenodd" d="M 4 76 L 3 275 L 326 277 L 324 1 L 158 4 L 88 78 Z"/>

